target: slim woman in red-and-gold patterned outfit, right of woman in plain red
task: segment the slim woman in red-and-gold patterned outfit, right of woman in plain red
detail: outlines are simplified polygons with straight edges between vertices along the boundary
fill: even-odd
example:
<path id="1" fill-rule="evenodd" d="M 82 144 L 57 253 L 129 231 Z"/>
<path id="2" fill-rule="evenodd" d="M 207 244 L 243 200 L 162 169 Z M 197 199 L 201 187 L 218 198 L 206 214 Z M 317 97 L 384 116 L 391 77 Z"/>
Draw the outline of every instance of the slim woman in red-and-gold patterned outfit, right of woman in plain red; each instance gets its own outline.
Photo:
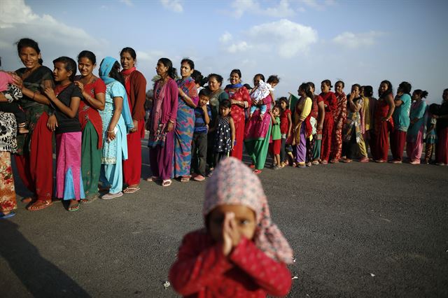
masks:
<path id="1" fill-rule="evenodd" d="M 333 111 L 335 126 L 333 127 L 333 136 L 331 141 L 331 160 L 332 164 L 339 162 L 342 153 L 342 127 L 347 118 L 347 97 L 344 93 L 344 82 L 338 80 L 335 84 L 335 95 L 337 99 L 337 108 Z"/>

